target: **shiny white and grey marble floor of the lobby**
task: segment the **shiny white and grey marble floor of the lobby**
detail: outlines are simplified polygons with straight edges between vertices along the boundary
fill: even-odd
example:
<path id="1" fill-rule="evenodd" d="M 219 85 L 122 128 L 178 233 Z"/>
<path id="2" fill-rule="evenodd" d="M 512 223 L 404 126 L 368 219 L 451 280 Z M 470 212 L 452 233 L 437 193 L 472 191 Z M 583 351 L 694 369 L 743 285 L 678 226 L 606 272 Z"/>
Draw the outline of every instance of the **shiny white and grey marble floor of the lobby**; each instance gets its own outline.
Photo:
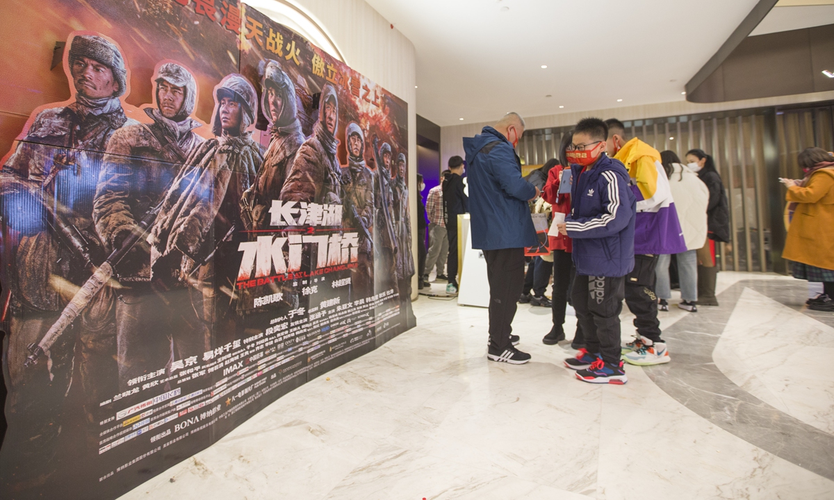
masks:
<path id="1" fill-rule="evenodd" d="M 564 368 L 550 309 L 520 306 L 533 359 L 511 366 L 486 360 L 485 309 L 421 296 L 417 328 L 123 499 L 831 499 L 834 314 L 807 290 L 721 273 L 721 307 L 661 313 L 672 362 L 625 386 Z"/>

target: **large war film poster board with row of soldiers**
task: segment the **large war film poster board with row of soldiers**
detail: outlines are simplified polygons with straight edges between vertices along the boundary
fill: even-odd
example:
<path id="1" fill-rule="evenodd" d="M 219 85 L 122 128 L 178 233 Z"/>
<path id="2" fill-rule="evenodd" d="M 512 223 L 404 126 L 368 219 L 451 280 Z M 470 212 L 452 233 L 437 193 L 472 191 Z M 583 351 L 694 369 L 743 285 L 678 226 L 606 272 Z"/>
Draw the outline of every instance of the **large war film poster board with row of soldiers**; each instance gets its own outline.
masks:
<path id="1" fill-rule="evenodd" d="M 414 326 L 405 102 L 243 4 L 9 3 L 66 45 L 3 63 L 63 100 L 0 171 L 0 497 L 115 498 Z"/>

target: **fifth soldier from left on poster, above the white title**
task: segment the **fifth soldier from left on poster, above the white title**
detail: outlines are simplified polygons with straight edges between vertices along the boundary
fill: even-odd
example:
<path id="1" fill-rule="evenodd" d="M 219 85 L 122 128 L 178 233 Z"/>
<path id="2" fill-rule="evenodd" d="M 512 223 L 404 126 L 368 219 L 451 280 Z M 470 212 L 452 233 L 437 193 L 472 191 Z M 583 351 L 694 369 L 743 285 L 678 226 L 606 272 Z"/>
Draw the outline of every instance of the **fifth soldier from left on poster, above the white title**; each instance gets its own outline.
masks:
<path id="1" fill-rule="evenodd" d="M 339 97 L 334 87 L 325 85 L 319 97 L 319 121 L 295 155 L 281 200 L 339 205 L 341 168 L 336 159 L 336 129 L 339 125 Z"/>

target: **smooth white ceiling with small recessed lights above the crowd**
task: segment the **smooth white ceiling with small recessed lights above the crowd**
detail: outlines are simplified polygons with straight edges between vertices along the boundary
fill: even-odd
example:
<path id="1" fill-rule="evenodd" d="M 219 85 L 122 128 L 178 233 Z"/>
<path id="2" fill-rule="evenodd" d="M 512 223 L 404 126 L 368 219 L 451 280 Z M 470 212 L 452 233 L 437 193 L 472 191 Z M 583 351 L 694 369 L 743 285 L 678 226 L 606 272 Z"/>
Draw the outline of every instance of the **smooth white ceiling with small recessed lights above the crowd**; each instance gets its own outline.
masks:
<path id="1" fill-rule="evenodd" d="M 441 127 L 682 100 L 757 3 L 366 1 L 414 43 L 417 112 Z"/>

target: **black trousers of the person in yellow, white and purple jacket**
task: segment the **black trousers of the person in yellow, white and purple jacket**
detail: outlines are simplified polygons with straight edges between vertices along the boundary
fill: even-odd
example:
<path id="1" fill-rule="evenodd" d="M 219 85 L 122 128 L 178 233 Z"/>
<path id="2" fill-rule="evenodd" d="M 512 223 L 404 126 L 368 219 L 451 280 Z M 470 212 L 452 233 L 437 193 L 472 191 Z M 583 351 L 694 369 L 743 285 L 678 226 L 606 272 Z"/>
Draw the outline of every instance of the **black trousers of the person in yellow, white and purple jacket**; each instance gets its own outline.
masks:
<path id="1" fill-rule="evenodd" d="M 625 304 L 636 316 L 634 326 L 641 337 L 653 343 L 663 342 L 655 295 L 657 258 L 656 255 L 635 255 L 634 271 L 625 277 Z"/>

